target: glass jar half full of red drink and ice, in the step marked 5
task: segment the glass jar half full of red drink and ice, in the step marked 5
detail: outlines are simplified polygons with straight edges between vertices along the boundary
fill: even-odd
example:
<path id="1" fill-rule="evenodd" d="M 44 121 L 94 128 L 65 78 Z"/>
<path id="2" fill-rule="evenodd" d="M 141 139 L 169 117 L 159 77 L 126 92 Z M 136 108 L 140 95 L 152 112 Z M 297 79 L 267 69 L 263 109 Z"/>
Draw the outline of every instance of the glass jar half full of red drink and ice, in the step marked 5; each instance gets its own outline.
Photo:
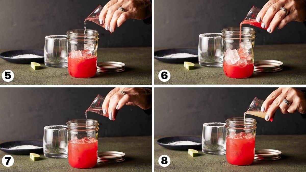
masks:
<path id="1" fill-rule="evenodd" d="M 72 77 L 91 78 L 97 72 L 99 33 L 96 30 L 76 29 L 67 32 L 68 72 Z"/>

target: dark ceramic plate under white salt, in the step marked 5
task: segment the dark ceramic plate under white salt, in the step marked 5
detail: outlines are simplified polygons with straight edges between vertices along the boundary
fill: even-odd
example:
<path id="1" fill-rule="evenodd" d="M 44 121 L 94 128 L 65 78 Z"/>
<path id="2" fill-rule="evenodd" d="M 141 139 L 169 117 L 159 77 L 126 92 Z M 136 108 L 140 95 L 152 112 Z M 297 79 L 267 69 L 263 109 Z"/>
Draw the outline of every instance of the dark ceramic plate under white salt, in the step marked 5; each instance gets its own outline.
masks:
<path id="1" fill-rule="evenodd" d="M 35 54 L 42 56 L 41 58 L 11 58 L 13 56 L 22 55 L 22 54 Z M 43 50 L 12 50 L 2 52 L 0 58 L 11 62 L 19 64 L 30 64 L 31 62 L 43 63 L 44 62 L 44 52 Z"/>

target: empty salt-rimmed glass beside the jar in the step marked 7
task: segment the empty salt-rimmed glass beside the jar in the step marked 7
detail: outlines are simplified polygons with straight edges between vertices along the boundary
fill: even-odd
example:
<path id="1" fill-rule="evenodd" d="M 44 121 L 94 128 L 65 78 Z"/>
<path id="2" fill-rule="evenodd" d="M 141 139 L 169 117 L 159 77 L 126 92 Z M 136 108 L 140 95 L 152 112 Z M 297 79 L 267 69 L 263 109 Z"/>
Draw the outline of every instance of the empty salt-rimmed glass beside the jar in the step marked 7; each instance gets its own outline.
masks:
<path id="1" fill-rule="evenodd" d="M 68 158 L 68 139 L 66 125 L 44 127 L 43 155 L 48 158 Z"/>

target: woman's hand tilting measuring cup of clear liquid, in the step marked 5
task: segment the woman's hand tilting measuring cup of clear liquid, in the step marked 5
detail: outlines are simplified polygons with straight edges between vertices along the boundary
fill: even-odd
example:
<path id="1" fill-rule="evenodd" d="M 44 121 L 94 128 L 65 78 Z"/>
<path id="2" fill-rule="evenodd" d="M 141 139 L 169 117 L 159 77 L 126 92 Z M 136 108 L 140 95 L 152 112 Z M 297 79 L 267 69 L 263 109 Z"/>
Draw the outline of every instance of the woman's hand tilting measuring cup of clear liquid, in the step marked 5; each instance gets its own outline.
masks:
<path id="1" fill-rule="evenodd" d="M 122 12 L 122 7 L 125 12 Z M 113 33 L 128 19 L 144 20 L 151 17 L 151 2 L 149 0 L 110 0 L 102 9 L 99 17 L 103 28 Z"/>

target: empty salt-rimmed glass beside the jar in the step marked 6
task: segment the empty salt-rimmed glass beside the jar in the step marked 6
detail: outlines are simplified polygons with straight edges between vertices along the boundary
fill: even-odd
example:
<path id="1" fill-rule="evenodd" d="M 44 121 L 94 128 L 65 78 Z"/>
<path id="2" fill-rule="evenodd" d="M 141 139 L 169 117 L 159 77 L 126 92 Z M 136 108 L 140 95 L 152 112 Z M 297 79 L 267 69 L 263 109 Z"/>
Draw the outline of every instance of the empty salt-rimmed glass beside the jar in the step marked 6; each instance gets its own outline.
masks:
<path id="1" fill-rule="evenodd" d="M 199 35 L 199 64 L 207 67 L 222 67 L 222 33 L 203 33 Z"/>

